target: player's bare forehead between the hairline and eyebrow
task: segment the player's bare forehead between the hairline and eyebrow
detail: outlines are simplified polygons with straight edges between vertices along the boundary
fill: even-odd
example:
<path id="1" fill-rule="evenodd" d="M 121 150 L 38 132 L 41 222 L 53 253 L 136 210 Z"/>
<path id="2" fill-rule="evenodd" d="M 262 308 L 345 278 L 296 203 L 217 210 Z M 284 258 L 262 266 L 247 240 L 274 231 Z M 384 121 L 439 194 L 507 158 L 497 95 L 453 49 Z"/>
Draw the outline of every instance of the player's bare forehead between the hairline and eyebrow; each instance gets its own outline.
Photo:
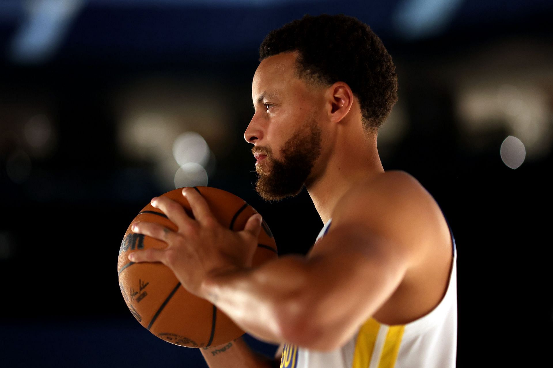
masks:
<path id="1" fill-rule="evenodd" d="M 284 91 L 300 82 L 294 76 L 295 61 L 296 52 L 282 52 L 263 59 L 253 76 L 252 97 L 254 101 L 265 91 Z"/>

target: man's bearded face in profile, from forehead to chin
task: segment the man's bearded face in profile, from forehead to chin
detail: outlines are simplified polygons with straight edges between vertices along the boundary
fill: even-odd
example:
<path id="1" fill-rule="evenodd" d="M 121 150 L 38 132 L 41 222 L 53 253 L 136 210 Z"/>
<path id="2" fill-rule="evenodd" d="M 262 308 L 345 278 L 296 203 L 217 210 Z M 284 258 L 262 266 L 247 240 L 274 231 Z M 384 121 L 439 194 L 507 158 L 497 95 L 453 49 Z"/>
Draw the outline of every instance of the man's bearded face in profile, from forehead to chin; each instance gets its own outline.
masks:
<path id="1" fill-rule="evenodd" d="M 252 83 L 255 113 L 244 133 L 252 153 L 267 155 L 255 166 L 255 190 L 265 201 L 301 192 L 321 155 L 317 111 L 322 94 L 294 76 L 295 52 L 260 62 Z"/>

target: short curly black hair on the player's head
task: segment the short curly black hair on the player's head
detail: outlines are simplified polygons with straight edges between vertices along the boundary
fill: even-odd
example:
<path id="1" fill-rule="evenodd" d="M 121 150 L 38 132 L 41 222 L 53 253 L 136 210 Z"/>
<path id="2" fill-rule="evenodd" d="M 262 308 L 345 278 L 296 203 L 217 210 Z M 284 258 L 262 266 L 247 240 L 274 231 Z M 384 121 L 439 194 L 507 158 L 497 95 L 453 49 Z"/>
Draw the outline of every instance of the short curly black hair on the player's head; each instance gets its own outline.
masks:
<path id="1" fill-rule="evenodd" d="M 305 14 L 270 31 L 259 61 L 298 51 L 296 76 L 312 85 L 347 83 L 359 100 L 365 132 L 377 132 L 398 101 L 398 76 L 382 40 L 359 19 Z"/>

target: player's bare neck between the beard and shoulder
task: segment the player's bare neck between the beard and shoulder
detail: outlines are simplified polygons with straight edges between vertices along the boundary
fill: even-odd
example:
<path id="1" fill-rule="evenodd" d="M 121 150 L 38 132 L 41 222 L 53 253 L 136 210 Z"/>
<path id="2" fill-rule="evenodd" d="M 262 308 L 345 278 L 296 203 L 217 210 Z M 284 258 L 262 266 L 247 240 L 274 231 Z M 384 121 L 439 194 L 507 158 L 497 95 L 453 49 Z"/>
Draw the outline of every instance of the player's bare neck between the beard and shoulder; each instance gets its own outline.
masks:
<path id="1" fill-rule="evenodd" d="M 378 156 L 376 135 L 342 134 L 326 159 L 320 160 L 318 175 L 306 183 L 315 208 L 324 224 L 340 198 L 353 186 L 382 174 L 384 168 Z"/>

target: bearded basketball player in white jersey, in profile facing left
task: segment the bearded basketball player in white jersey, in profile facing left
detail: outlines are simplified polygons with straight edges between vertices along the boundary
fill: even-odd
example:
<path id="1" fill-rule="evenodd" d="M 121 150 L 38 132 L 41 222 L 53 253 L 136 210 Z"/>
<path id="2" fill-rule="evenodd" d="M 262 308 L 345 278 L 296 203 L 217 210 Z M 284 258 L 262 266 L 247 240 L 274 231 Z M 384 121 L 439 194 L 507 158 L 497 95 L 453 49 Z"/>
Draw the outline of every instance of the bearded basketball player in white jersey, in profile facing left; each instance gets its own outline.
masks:
<path id="1" fill-rule="evenodd" d="M 455 366 L 456 249 L 440 207 L 404 171 L 384 171 L 377 132 L 397 101 L 382 41 L 345 15 L 306 15 L 269 33 L 252 84 L 256 190 L 267 201 L 306 187 L 324 227 L 307 256 L 257 269 L 260 219 L 222 228 L 199 193 L 195 219 L 153 199 L 178 225 L 134 229 L 166 241 L 131 261 L 160 261 L 246 332 L 280 344 L 276 360 L 238 338 L 202 348 L 216 367 L 447 368 Z M 413 153 L 416 154 L 416 153 Z"/>

